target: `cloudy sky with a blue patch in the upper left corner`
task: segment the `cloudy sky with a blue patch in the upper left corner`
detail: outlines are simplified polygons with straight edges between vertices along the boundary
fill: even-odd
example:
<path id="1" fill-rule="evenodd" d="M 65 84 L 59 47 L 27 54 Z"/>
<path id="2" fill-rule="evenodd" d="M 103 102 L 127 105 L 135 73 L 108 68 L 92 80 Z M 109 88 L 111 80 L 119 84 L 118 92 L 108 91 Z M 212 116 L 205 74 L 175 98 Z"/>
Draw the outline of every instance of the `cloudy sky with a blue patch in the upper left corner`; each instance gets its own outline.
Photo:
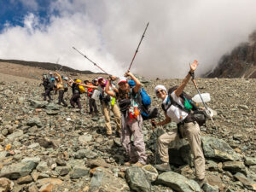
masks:
<path id="1" fill-rule="evenodd" d="M 196 76 L 217 66 L 256 30 L 255 0 L 0 0 L 0 58 L 59 61 L 108 73 L 131 67 L 147 78 L 183 78 L 189 62 Z"/>

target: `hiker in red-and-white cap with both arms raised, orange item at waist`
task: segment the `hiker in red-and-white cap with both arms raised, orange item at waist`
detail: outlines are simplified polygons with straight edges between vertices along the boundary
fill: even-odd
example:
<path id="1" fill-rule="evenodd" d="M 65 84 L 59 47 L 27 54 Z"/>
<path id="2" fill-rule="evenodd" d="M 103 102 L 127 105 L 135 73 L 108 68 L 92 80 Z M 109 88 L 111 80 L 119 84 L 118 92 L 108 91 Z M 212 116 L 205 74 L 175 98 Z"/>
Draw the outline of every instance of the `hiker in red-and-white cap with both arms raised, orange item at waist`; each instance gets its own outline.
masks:
<path id="1" fill-rule="evenodd" d="M 143 140 L 143 117 L 139 113 L 137 95 L 141 87 L 140 81 L 130 72 L 125 73 L 125 76 L 130 76 L 134 80 L 133 88 L 127 82 L 125 77 L 119 79 L 119 89 L 110 90 L 109 81 L 106 85 L 106 92 L 109 96 L 113 96 L 119 102 L 119 108 L 122 113 L 122 134 L 121 143 L 125 148 L 125 152 L 129 155 L 130 160 L 125 163 L 125 166 L 146 165 L 147 155 L 145 143 Z M 133 136 L 133 144 L 131 143 Z"/>

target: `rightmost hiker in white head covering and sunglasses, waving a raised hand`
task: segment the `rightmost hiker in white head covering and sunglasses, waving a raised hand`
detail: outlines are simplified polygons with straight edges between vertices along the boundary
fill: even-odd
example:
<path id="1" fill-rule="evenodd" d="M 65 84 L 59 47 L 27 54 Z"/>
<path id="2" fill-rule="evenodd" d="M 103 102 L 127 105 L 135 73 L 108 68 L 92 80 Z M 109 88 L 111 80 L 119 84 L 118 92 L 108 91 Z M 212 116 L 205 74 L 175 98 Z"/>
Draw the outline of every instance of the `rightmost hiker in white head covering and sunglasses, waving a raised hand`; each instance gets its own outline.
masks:
<path id="1" fill-rule="evenodd" d="M 188 84 L 191 75 L 195 72 L 198 66 L 198 62 L 195 60 L 190 66 L 190 71 L 183 79 L 182 84 L 180 84 L 177 89 L 166 90 L 164 85 L 157 85 L 154 88 L 155 94 L 160 98 L 162 102 L 162 109 L 165 112 L 166 119 L 161 122 L 155 122 L 154 119 L 151 120 L 152 125 L 166 125 L 172 121 L 177 123 L 177 128 L 170 132 L 166 132 L 158 138 L 158 152 L 160 154 L 160 160 L 162 164 L 156 165 L 155 168 L 160 171 L 170 171 L 169 165 L 169 155 L 168 155 L 168 145 L 172 141 L 177 141 L 182 138 L 187 138 L 189 141 L 190 148 L 194 155 L 195 161 L 195 177 L 197 182 L 202 185 L 205 178 L 205 157 L 201 148 L 201 131 L 198 123 L 193 119 L 193 115 L 182 110 L 184 108 L 185 101 L 182 97 L 183 90 Z M 181 107 L 177 107 L 177 105 Z"/>

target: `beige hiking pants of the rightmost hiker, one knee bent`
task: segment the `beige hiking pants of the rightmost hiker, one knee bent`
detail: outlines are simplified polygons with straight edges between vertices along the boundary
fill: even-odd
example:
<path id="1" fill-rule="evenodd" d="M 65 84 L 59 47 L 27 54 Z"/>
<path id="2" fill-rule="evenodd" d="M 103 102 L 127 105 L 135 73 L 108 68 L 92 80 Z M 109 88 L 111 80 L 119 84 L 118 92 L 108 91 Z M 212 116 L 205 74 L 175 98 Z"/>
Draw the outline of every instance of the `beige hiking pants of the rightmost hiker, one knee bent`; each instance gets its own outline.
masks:
<path id="1" fill-rule="evenodd" d="M 202 179 L 205 177 L 205 157 L 201 148 L 200 127 L 196 122 L 191 122 L 181 125 L 180 129 L 183 131 L 184 137 L 188 139 L 190 148 L 194 155 L 195 177 Z M 160 160 L 166 163 L 169 162 L 168 145 L 172 141 L 177 141 L 179 139 L 177 129 L 166 132 L 158 138 L 158 152 L 160 154 Z"/>

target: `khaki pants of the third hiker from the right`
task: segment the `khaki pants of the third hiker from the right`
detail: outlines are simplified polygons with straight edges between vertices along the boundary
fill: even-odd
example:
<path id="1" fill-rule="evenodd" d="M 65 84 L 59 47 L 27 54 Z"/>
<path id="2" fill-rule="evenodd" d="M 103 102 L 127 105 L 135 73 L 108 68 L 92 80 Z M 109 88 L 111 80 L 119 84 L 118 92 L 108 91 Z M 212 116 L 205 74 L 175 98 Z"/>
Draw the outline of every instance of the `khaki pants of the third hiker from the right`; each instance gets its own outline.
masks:
<path id="1" fill-rule="evenodd" d="M 104 117 L 105 117 L 105 127 L 107 130 L 107 135 L 112 134 L 110 114 L 109 114 L 110 110 L 113 112 L 113 116 L 116 123 L 116 130 L 119 132 L 121 131 L 121 115 L 120 115 L 118 106 L 116 104 L 114 104 L 113 106 L 109 106 L 105 102 L 102 102 L 102 113 L 104 114 Z"/>

